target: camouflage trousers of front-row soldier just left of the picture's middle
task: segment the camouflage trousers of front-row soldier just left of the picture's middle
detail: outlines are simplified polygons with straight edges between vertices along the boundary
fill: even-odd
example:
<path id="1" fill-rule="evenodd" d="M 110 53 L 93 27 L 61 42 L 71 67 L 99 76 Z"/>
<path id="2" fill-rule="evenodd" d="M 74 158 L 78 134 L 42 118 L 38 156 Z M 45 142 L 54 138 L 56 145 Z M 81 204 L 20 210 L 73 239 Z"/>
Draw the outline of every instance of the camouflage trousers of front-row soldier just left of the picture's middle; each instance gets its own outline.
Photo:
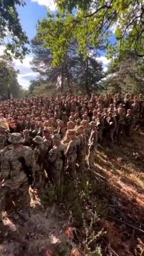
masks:
<path id="1" fill-rule="evenodd" d="M 51 174 L 53 184 L 60 186 L 61 185 L 61 175 L 62 175 L 62 168 L 63 168 L 63 161 L 57 160 L 54 165 L 51 165 Z"/>

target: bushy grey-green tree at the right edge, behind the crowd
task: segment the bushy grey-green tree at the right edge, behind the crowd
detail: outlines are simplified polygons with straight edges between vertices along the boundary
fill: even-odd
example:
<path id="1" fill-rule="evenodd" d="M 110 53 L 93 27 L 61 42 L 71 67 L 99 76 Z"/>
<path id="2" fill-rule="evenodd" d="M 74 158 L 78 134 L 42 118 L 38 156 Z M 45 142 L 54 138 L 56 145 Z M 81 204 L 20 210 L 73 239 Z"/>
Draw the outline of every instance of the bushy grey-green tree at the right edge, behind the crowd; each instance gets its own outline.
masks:
<path id="1" fill-rule="evenodd" d="M 109 64 L 108 77 L 103 82 L 106 90 L 113 93 L 144 93 L 144 60 L 134 52 L 121 61 L 116 58 Z"/>

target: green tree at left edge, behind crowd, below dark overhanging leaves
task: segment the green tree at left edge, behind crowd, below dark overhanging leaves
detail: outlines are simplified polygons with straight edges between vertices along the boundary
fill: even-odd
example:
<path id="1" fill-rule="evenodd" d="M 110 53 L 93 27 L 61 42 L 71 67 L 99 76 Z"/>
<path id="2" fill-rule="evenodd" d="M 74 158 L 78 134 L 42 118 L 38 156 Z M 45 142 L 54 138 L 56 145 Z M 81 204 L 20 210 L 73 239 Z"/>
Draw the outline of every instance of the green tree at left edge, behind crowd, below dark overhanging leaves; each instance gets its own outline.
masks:
<path id="1" fill-rule="evenodd" d="M 21 86 L 18 83 L 17 76 L 19 71 L 14 69 L 14 64 L 5 59 L 0 58 L 0 96 L 1 99 L 19 98 L 21 94 Z"/>

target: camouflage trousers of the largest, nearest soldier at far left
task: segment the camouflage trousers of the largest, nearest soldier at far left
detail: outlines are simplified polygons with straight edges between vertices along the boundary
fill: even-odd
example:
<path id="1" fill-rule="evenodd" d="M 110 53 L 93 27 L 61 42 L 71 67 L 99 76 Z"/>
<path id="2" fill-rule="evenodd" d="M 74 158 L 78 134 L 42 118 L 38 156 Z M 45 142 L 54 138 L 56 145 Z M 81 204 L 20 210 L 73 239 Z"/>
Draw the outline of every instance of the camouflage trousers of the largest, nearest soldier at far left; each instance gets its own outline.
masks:
<path id="1" fill-rule="evenodd" d="M 10 182 L 9 182 L 10 185 Z M 17 193 L 18 196 L 18 208 L 19 210 L 28 211 L 30 207 L 30 196 L 29 196 L 29 185 L 27 181 L 24 181 L 22 184 L 15 187 L 14 192 Z M 2 220 L 2 211 L 5 209 L 5 198 L 10 194 L 12 189 L 7 186 L 0 186 L 0 220 Z"/>

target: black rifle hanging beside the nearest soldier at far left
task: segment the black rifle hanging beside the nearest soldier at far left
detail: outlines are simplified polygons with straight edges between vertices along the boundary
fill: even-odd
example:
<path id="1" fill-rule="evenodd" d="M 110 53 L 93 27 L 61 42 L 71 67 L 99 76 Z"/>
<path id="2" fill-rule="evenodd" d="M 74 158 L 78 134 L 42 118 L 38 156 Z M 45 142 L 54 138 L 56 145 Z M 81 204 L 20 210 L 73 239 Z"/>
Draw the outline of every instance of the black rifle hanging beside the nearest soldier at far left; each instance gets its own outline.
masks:
<path id="1" fill-rule="evenodd" d="M 30 166 L 30 165 L 26 165 L 26 161 L 25 161 L 25 158 L 24 158 L 24 157 L 20 157 L 20 158 L 18 158 L 18 160 L 19 160 L 19 162 L 22 164 L 24 173 L 27 175 L 28 184 L 29 184 L 32 188 L 34 188 L 35 185 L 34 185 L 34 179 L 33 179 L 33 174 L 32 174 L 31 166 Z"/>

